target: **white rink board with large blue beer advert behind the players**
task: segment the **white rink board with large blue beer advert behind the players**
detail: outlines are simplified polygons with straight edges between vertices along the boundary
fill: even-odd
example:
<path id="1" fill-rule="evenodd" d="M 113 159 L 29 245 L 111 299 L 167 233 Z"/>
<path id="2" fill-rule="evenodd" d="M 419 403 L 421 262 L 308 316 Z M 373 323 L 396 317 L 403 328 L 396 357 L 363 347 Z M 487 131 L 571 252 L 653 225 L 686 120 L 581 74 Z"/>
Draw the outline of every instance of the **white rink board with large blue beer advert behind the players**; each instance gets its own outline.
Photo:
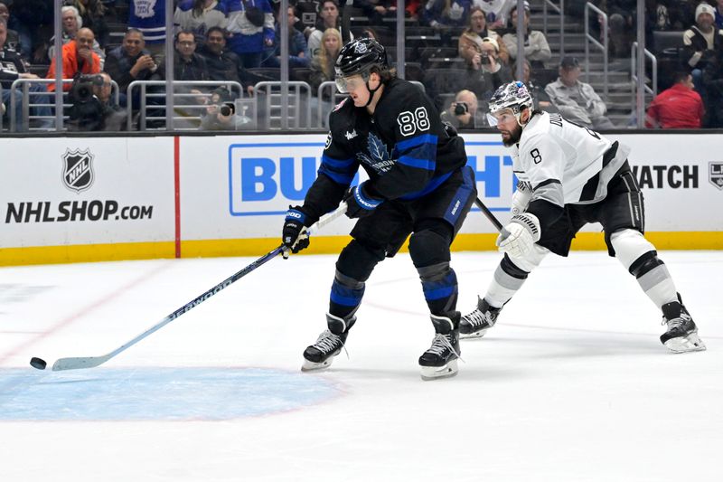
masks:
<path id="1" fill-rule="evenodd" d="M 465 135 L 479 196 L 502 221 L 513 192 L 512 158 L 496 134 Z M 645 173 L 646 230 L 723 230 L 723 217 L 700 206 L 723 203 L 709 179 L 718 136 L 611 135 L 633 148 L 631 165 Z M 277 237 L 289 204 L 300 204 L 321 163 L 324 135 L 183 137 L 181 139 L 182 239 Z M 717 157 L 718 156 L 718 157 Z M 662 182 L 659 183 L 659 176 Z M 680 184 L 680 185 L 679 185 Z M 324 235 L 342 235 L 352 222 L 334 222 Z M 599 231 L 587 226 L 585 231 Z M 463 232 L 493 232 L 479 214 Z"/>

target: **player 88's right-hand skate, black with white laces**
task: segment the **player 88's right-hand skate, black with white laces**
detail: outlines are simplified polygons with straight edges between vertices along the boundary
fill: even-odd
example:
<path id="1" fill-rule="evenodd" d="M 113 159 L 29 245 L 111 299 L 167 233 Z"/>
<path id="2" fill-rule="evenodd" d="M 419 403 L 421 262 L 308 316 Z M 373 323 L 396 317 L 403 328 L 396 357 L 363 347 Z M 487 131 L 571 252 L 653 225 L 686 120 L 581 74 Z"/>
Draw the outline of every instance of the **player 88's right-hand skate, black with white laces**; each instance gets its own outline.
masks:
<path id="1" fill-rule="evenodd" d="M 431 317 L 437 335 L 429 349 L 419 357 L 422 380 L 455 376 L 459 358 L 459 312 L 455 311 L 452 317 Z"/>

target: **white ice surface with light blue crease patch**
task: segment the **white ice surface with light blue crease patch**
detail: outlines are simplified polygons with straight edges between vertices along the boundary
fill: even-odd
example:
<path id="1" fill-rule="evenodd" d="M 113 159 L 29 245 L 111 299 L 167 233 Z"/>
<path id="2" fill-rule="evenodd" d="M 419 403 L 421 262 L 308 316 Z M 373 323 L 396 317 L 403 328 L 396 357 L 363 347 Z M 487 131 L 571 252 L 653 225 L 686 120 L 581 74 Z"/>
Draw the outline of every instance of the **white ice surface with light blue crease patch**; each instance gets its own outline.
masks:
<path id="1" fill-rule="evenodd" d="M 269 245 L 259 247 L 259 256 Z M 253 258 L 0 269 L 0 480 L 719 481 L 723 251 L 662 251 L 708 351 L 602 251 L 549 256 L 499 324 L 422 382 L 434 336 L 407 254 L 381 263 L 331 369 L 301 373 L 335 256 L 280 257 L 97 368 Z M 453 253 L 459 309 L 499 255 Z M 32 356 L 49 367 L 38 371 Z"/>

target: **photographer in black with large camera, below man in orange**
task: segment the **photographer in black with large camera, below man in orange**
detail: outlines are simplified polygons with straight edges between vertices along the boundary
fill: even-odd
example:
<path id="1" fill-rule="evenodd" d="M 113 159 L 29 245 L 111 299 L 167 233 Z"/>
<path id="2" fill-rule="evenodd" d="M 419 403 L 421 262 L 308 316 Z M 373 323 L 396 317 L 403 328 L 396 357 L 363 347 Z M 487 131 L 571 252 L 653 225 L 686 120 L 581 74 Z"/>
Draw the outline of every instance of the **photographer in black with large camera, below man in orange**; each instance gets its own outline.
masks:
<path id="1" fill-rule="evenodd" d="M 111 80 L 106 72 L 78 75 L 70 88 L 70 120 L 74 131 L 117 132 L 125 127 L 126 113 L 110 97 Z"/>

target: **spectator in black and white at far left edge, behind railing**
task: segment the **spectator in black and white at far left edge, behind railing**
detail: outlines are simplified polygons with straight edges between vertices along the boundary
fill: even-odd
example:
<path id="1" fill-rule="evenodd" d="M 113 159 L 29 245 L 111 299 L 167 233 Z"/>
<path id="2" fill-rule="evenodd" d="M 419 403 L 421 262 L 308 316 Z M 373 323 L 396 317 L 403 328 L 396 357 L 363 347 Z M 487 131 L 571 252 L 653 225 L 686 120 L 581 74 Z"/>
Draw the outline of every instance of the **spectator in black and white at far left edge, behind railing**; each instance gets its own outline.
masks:
<path id="1" fill-rule="evenodd" d="M 4 115 L 7 109 L 10 109 L 12 106 L 11 99 L 13 97 L 13 92 L 10 90 L 10 88 L 13 85 L 13 82 L 18 79 L 38 79 L 37 75 L 34 75 L 32 73 L 28 73 L 27 69 L 25 68 L 25 63 L 23 62 L 23 59 L 20 56 L 20 53 L 15 52 L 14 49 L 11 49 L 6 45 L 5 39 L 7 38 L 7 22 L 5 21 L 5 18 L 0 17 L 0 85 L 3 86 L 3 96 L 0 101 L 2 101 L 3 104 L 5 104 L 5 109 L 2 113 L 0 113 L 0 116 Z M 45 88 L 42 86 L 42 84 L 39 83 L 31 83 L 29 85 L 29 90 L 31 92 L 31 95 L 35 92 L 45 92 Z M 25 131 L 27 130 L 28 126 L 24 124 L 23 119 L 23 91 L 22 90 L 15 90 L 15 110 L 14 110 L 14 116 L 16 121 L 16 128 L 19 131 Z M 31 99 L 33 103 L 36 104 L 48 104 L 50 102 L 50 99 L 48 96 L 34 96 Z M 49 107 L 39 107 L 39 108 L 33 108 L 34 114 L 36 116 L 51 116 L 51 109 Z M 50 127 L 48 125 L 43 127 Z"/>

